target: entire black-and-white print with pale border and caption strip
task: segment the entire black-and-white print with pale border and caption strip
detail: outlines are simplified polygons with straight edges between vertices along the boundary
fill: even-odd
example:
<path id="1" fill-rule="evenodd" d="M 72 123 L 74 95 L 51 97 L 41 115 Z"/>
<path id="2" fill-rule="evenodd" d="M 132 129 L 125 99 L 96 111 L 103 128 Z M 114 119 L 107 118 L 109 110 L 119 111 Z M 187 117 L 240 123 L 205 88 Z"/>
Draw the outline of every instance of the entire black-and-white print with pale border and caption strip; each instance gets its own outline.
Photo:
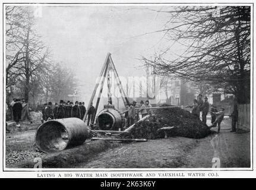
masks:
<path id="1" fill-rule="evenodd" d="M 254 2 L 2 2 L 1 176 L 253 173 L 253 55 Z"/>

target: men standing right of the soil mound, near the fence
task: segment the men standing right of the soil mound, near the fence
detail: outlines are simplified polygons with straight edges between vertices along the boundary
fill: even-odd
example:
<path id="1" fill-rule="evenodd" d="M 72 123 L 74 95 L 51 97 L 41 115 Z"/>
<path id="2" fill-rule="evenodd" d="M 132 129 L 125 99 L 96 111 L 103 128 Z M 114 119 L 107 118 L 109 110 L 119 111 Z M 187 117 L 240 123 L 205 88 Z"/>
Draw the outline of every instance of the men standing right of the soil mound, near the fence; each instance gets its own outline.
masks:
<path id="1" fill-rule="evenodd" d="M 186 106 L 192 108 L 191 114 L 194 115 L 196 118 L 200 119 L 200 113 L 202 115 L 202 122 L 206 124 L 207 121 L 207 114 L 210 109 L 210 103 L 208 102 L 207 96 L 204 97 L 203 101 L 203 96 L 201 94 L 198 95 L 198 100 L 194 99 L 193 105 L 192 106 Z M 225 108 L 220 107 L 220 110 L 218 111 L 216 106 L 211 105 L 211 125 L 209 126 L 210 128 L 216 127 L 218 124 L 218 133 L 220 132 L 220 124 L 223 121 L 224 115 L 225 115 Z M 234 106 L 234 110 L 232 115 L 232 131 L 231 132 L 236 132 L 236 122 L 238 121 L 238 109 L 237 106 Z"/>

